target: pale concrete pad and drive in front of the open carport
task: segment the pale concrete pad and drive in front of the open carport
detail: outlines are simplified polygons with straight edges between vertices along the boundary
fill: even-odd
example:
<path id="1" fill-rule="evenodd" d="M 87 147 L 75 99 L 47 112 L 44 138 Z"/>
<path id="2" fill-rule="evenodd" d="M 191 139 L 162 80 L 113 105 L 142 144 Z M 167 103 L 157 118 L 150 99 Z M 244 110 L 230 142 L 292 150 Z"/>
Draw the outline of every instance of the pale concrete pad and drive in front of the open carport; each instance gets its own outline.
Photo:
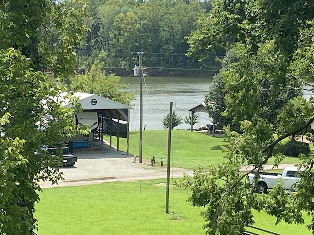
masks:
<path id="1" fill-rule="evenodd" d="M 74 186 L 96 184 L 112 181 L 130 181 L 140 179 L 166 178 L 166 167 L 161 167 L 160 163 L 151 166 L 150 162 L 139 163 L 134 156 L 115 148 L 109 148 L 107 144 L 92 142 L 90 148 L 74 149 L 74 154 L 78 156 L 78 161 L 73 167 L 60 169 L 63 173 L 63 181 L 59 186 Z M 184 173 L 192 174 L 190 170 L 172 168 L 171 177 L 183 177 Z M 55 187 L 50 182 L 41 182 L 42 188 Z"/>

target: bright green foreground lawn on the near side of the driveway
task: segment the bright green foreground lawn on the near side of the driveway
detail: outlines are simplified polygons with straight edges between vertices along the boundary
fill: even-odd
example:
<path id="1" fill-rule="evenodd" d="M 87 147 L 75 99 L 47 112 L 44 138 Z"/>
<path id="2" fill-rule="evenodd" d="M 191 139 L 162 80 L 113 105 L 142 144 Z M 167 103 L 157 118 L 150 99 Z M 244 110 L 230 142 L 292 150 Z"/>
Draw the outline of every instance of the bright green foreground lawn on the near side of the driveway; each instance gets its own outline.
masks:
<path id="1" fill-rule="evenodd" d="M 202 235 L 200 210 L 186 200 L 189 190 L 170 187 L 165 214 L 165 180 L 44 188 L 36 205 L 39 235 Z M 305 225 L 280 223 L 254 212 L 256 227 L 283 235 L 310 235 Z M 227 226 L 227 225 L 226 225 Z M 261 233 L 262 234 L 262 233 Z"/>

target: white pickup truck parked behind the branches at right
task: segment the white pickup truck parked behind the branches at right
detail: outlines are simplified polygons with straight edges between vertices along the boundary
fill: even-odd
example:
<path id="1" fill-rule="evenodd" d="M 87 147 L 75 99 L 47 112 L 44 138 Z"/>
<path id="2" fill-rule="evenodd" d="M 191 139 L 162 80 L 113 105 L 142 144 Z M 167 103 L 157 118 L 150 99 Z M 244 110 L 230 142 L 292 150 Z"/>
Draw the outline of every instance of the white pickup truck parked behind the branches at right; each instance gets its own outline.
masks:
<path id="1" fill-rule="evenodd" d="M 295 173 L 298 171 L 297 167 L 286 167 L 282 174 L 277 173 L 259 173 L 260 178 L 256 185 L 256 191 L 258 193 L 267 193 L 268 189 L 274 188 L 278 179 L 282 179 L 284 182 L 284 188 L 286 190 L 295 190 L 295 185 L 300 178 L 295 177 Z M 248 174 L 246 181 L 250 184 L 254 184 L 254 173 Z"/>

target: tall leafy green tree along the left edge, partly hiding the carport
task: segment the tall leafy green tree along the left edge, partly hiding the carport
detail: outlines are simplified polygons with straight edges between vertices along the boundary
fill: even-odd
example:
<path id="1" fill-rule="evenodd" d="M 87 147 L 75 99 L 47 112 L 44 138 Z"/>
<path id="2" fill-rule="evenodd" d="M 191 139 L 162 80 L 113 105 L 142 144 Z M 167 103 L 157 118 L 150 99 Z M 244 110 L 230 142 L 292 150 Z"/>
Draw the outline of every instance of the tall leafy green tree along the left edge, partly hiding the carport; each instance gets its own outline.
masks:
<path id="1" fill-rule="evenodd" d="M 73 74 L 74 44 L 86 31 L 84 10 L 74 1 L 0 2 L 0 234 L 33 234 L 39 182 L 61 178 L 61 153 L 47 155 L 40 146 L 75 132 L 75 100 L 70 109 L 60 100 Z"/>

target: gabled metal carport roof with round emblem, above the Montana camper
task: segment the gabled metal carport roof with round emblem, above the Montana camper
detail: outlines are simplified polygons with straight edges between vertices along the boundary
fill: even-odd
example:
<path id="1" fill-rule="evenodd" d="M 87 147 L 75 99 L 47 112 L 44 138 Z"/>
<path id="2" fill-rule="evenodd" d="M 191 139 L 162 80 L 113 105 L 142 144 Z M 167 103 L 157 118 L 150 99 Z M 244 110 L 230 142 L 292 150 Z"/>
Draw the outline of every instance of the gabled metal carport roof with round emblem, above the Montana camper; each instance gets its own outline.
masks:
<path id="1" fill-rule="evenodd" d="M 129 109 L 133 109 L 128 105 L 95 94 L 76 92 L 73 96 L 78 97 L 78 103 L 81 104 L 83 111 L 98 112 L 106 118 L 128 121 Z M 70 104 L 65 105 L 65 107 L 70 106 Z"/>

